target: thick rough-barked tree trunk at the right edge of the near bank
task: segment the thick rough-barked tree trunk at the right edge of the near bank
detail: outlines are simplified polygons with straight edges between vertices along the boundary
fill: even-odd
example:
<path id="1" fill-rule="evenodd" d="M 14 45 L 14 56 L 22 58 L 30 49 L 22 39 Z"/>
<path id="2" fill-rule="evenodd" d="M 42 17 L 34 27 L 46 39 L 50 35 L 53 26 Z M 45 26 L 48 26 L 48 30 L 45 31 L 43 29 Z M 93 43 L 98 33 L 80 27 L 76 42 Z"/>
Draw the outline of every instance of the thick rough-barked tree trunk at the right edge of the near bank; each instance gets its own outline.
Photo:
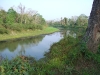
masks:
<path id="1" fill-rule="evenodd" d="M 93 2 L 84 41 L 89 50 L 97 52 L 100 43 L 100 0 Z"/>

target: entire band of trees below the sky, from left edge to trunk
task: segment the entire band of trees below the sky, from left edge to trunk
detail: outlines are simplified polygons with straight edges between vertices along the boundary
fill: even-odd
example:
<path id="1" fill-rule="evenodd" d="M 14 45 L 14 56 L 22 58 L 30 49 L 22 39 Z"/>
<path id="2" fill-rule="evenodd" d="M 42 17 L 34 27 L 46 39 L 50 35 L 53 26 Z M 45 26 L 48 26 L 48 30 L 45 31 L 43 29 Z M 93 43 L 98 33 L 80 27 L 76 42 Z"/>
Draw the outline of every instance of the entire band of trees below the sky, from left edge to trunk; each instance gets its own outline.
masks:
<path id="1" fill-rule="evenodd" d="M 18 7 L 11 7 L 8 11 L 0 8 L 0 34 L 8 34 L 11 31 L 36 30 L 49 26 L 87 26 L 88 16 L 81 14 L 80 16 L 64 17 L 59 21 L 45 21 L 45 19 L 37 11 L 26 9 L 21 3 Z"/>

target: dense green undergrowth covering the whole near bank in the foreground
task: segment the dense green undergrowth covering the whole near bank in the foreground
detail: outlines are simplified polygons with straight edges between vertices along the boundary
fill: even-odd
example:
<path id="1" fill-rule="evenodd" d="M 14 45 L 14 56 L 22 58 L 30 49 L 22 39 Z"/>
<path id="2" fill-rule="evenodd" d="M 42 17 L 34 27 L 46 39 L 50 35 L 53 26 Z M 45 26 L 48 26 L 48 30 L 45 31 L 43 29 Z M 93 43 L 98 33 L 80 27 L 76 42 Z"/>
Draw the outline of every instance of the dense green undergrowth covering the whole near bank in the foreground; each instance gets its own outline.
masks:
<path id="1" fill-rule="evenodd" d="M 83 27 L 71 27 L 80 32 L 76 38 L 65 36 L 51 46 L 45 58 L 36 61 L 34 58 L 19 56 L 4 60 L 0 65 L 1 75 L 99 75 L 100 53 L 91 53 L 81 41 Z"/>

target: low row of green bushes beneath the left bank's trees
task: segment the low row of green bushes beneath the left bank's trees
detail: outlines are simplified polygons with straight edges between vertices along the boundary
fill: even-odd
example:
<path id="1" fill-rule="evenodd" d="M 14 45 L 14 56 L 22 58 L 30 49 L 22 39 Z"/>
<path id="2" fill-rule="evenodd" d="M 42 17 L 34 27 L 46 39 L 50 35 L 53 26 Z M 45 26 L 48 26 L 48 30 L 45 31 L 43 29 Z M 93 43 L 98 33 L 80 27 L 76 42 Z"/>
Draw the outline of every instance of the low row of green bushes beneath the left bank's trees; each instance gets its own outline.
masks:
<path id="1" fill-rule="evenodd" d="M 19 24 L 19 23 L 6 23 L 3 24 L 6 29 L 21 31 L 21 30 L 35 30 L 35 29 L 43 29 L 42 25 L 35 25 L 35 24 Z"/>

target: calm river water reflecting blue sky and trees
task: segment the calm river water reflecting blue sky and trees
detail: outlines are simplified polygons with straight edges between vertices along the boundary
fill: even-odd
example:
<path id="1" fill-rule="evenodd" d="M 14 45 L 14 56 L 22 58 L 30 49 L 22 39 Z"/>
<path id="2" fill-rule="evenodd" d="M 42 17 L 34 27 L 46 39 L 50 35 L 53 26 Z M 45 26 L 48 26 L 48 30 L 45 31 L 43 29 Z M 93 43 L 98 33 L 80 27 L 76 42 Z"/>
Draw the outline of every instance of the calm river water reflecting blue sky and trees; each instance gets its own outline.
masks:
<path id="1" fill-rule="evenodd" d="M 68 36 L 69 31 L 65 34 Z M 60 41 L 63 37 L 63 32 L 55 32 L 17 41 L 0 42 L 0 56 L 12 59 L 19 55 L 25 55 L 39 60 L 44 57 L 45 52 L 49 51 L 53 43 Z"/>

